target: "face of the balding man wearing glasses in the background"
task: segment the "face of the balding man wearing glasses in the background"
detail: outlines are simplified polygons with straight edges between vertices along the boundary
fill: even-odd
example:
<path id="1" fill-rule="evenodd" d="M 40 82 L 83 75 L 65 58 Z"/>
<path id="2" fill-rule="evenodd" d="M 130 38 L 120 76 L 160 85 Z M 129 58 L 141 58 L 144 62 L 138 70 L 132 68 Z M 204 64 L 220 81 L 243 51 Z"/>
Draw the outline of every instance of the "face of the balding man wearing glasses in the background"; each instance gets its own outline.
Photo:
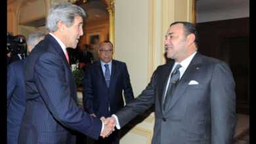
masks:
<path id="1" fill-rule="evenodd" d="M 100 50 L 108 50 L 108 51 L 103 52 Z M 109 63 L 112 60 L 113 51 L 110 52 L 109 50 L 113 50 L 111 43 L 102 43 L 100 45 L 98 54 L 100 54 L 100 60 L 104 63 Z"/>

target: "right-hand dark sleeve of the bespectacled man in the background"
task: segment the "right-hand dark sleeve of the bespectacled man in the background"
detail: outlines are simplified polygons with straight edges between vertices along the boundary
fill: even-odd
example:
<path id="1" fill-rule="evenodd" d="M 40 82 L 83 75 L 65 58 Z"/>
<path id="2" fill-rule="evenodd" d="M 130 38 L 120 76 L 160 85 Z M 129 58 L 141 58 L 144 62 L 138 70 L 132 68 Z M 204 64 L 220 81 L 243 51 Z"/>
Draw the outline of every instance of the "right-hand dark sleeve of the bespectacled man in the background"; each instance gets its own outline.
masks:
<path id="1" fill-rule="evenodd" d="M 134 99 L 133 88 L 131 87 L 130 76 L 129 76 L 126 64 L 124 66 L 124 71 L 123 71 L 123 90 L 129 102 L 132 101 Z M 126 101 L 126 103 L 128 102 Z"/>

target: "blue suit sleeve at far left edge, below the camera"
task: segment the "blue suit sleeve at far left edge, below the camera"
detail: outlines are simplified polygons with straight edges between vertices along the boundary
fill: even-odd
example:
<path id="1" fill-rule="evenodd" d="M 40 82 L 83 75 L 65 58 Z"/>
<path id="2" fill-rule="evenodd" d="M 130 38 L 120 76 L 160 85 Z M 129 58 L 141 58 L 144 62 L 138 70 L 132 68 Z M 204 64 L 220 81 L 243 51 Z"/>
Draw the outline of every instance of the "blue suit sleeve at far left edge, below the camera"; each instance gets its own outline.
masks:
<path id="1" fill-rule="evenodd" d="M 16 88 L 16 73 L 12 65 L 7 65 L 7 109 Z"/>

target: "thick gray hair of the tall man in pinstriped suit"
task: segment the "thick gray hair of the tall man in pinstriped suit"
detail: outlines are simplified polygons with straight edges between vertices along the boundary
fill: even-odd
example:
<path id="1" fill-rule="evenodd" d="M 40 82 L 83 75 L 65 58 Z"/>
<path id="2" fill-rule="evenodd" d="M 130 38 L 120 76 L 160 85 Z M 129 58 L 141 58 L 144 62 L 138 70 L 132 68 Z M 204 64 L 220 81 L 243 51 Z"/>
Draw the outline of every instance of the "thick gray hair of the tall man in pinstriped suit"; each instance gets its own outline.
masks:
<path id="1" fill-rule="evenodd" d="M 71 27 L 74 24 L 75 16 L 81 16 L 84 20 L 85 10 L 71 3 L 54 3 L 53 7 L 49 9 L 45 27 L 50 33 L 57 31 L 59 21 Z"/>

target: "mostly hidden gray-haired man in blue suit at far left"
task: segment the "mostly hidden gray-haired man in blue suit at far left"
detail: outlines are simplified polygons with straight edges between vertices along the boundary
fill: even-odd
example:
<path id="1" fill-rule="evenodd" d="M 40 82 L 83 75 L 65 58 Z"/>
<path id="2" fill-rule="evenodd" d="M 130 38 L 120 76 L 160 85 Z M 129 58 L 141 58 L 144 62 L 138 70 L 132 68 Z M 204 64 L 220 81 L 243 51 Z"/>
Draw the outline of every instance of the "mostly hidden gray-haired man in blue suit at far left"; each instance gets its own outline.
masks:
<path id="1" fill-rule="evenodd" d="M 32 33 L 28 37 L 28 50 L 45 38 L 45 33 Z M 7 143 L 18 143 L 18 132 L 26 108 L 24 71 L 28 57 L 7 65 Z"/>

